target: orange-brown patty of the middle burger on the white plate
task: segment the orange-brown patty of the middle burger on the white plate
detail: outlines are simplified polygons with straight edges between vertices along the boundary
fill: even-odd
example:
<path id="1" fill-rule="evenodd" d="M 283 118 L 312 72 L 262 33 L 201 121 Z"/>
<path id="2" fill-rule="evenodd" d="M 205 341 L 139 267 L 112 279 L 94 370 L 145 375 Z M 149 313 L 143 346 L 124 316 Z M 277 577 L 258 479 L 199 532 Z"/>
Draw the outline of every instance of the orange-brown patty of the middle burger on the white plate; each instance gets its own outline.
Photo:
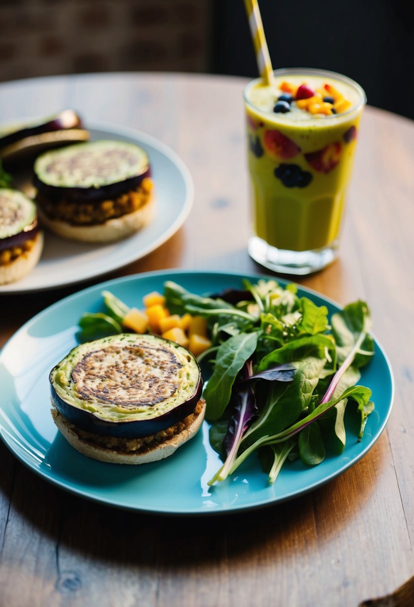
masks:
<path id="1" fill-rule="evenodd" d="M 115 219 L 138 211 L 148 202 L 153 185 L 150 177 L 144 177 L 138 188 L 125 192 L 114 200 L 101 200 L 93 203 L 76 203 L 65 200 L 52 202 L 38 192 L 36 202 L 50 219 L 61 220 L 72 225 L 96 225 L 105 223 L 108 219 Z"/>

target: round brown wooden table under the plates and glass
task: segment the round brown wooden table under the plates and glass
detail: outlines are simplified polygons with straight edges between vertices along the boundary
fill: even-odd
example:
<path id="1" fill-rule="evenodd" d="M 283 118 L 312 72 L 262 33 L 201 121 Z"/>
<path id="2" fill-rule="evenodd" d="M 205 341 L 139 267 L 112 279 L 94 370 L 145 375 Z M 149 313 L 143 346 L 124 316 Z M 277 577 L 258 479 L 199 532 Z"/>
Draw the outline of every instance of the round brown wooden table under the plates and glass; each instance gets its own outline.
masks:
<path id="1" fill-rule="evenodd" d="M 246 251 L 244 84 L 150 73 L 17 81 L 0 86 L 0 115 L 7 122 L 74 107 L 86 123 L 154 135 L 188 165 L 195 200 L 183 228 L 112 276 L 173 267 L 262 271 Z M 356 607 L 412 577 L 413 166 L 413 123 L 368 107 L 340 259 L 299 279 L 341 304 L 361 297 L 372 308 L 396 381 L 392 416 L 373 449 L 339 478 L 288 503 L 169 518 L 63 492 L 1 444 L 1 605 Z M 79 288 L 2 296 L 0 345 Z"/>

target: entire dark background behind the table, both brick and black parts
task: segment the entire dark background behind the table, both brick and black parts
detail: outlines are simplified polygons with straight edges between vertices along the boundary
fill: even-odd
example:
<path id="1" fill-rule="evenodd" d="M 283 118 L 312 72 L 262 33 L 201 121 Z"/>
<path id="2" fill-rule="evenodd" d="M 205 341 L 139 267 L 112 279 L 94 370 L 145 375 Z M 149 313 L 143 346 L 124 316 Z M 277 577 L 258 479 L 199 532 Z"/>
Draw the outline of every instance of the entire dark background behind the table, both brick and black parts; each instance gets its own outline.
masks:
<path id="1" fill-rule="evenodd" d="M 273 66 L 350 76 L 414 118 L 414 0 L 259 0 Z M 0 0 L 0 81 L 66 73 L 257 76 L 243 0 Z"/>

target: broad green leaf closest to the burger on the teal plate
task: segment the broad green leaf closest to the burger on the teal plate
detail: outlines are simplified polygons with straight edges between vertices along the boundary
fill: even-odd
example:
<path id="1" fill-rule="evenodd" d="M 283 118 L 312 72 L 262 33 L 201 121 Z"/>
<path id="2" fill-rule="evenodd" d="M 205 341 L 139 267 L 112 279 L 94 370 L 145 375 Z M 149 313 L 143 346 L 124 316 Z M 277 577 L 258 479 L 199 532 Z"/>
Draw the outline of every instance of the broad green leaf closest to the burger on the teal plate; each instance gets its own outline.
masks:
<path id="1" fill-rule="evenodd" d="M 220 345 L 214 370 L 204 391 L 207 419 L 214 421 L 223 415 L 236 376 L 256 350 L 257 339 L 257 333 L 239 333 Z"/>

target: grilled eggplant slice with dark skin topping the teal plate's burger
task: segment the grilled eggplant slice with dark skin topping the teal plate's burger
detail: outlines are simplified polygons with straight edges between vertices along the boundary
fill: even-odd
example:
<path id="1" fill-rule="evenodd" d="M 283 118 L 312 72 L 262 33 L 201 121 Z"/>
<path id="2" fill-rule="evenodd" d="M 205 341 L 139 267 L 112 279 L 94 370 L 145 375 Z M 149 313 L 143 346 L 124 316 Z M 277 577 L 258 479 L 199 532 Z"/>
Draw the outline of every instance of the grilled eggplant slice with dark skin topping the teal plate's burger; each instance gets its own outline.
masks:
<path id="1" fill-rule="evenodd" d="M 161 384 L 167 376 L 164 391 L 171 395 L 160 396 L 152 367 L 161 369 Z M 181 385 L 175 385 L 182 377 L 186 378 L 183 393 Z M 118 438 L 143 438 L 177 424 L 194 412 L 203 390 L 200 367 L 186 348 L 162 337 L 137 334 L 104 337 L 73 348 L 50 371 L 49 381 L 53 405 L 67 421 L 87 432 Z M 141 384 L 148 384 L 148 399 L 146 392 L 140 392 L 137 401 L 131 401 L 134 383 L 138 392 Z M 163 389 L 161 385 L 161 393 Z M 121 411 L 118 418 L 114 409 Z"/>

